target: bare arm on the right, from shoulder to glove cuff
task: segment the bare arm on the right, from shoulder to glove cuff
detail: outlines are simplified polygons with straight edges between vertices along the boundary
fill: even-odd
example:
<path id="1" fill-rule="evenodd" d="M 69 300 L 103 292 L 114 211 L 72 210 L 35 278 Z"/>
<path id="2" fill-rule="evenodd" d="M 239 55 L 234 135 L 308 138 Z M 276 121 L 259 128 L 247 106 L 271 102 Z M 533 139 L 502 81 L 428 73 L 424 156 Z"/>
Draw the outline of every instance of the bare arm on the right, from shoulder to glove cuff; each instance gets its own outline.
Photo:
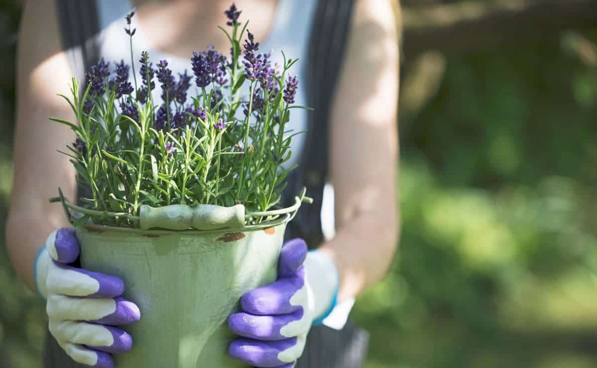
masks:
<path id="1" fill-rule="evenodd" d="M 390 0 L 356 1 L 345 60 L 330 131 L 337 232 L 320 249 L 337 265 L 338 301 L 384 277 L 399 236 L 399 42 Z"/>

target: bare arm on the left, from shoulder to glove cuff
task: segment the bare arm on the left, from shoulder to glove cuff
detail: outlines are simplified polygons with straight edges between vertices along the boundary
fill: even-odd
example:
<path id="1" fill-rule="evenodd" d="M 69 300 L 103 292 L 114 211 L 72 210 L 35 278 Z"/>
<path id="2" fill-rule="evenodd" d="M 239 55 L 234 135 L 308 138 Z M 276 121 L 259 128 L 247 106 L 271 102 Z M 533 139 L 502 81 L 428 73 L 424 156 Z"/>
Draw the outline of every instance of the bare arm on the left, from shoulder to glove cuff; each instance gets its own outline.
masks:
<path id="1" fill-rule="evenodd" d="M 68 226 L 63 209 L 48 198 L 61 187 L 75 198 L 75 169 L 56 150 L 75 140 L 66 126 L 48 117 L 74 121 L 66 101 L 72 73 L 62 52 L 54 1 L 28 1 L 21 18 L 17 51 L 17 125 L 13 193 L 6 222 L 8 253 L 17 274 L 35 290 L 33 263 L 53 230 Z"/>

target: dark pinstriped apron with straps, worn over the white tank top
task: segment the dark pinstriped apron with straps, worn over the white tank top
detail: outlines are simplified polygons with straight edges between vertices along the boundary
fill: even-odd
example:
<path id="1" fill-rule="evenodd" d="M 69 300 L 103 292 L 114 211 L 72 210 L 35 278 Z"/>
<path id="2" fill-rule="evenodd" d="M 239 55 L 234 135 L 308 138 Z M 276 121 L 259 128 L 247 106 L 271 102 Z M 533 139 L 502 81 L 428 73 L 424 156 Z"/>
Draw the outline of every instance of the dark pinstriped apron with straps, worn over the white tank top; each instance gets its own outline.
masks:
<path id="1" fill-rule="evenodd" d="M 313 204 L 302 206 L 286 231 L 287 239 L 301 237 L 312 248 L 317 248 L 324 240 L 320 214 L 328 173 L 328 121 L 349 35 L 353 3 L 354 0 L 319 0 L 305 73 L 307 100 L 315 110 L 309 113 L 309 129 L 305 133 L 300 165 L 288 175 L 288 185 L 282 197 L 282 205 L 290 205 L 303 186 L 313 197 Z M 99 58 L 94 37 L 100 29 L 96 2 L 57 0 L 56 4 L 63 47 L 67 50 L 70 66 L 76 74 L 83 75 Z M 368 333 L 350 321 L 340 331 L 314 326 L 296 367 L 361 368 L 368 340 Z M 48 332 L 44 368 L 84 366 L 70 359 Z"/>

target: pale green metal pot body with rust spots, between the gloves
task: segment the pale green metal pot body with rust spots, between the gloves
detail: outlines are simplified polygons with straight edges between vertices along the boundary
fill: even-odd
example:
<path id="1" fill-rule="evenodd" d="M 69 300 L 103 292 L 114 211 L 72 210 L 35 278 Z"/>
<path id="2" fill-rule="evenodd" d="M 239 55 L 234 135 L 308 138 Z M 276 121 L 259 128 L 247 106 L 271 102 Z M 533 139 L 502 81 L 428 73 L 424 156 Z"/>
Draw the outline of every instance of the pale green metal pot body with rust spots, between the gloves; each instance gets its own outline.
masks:
<path id="1" fill-rule="evenodd" d="M 236 232 L 76 227 L 82 266 L 121 277 L 141 310 L 122 327 L 134 344 L 116 367 L 247 367 L 227 355 L 227 318 L 245 292 L 275 281 L 288 219 Z"/>

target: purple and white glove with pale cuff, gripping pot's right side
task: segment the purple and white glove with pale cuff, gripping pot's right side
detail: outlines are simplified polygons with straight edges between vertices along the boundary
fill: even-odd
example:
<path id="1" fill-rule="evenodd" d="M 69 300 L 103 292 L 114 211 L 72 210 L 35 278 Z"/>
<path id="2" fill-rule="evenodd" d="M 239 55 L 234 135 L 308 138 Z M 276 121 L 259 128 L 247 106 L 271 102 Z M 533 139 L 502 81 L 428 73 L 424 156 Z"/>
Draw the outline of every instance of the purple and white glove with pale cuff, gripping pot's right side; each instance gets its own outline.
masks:
<path id="1" fill-rule="evenodd" d="M 307 252 L 302 239 L 286 242 L 278 280 L 245 293 L 243 311 L 229 317 L 230 330 L 241 336 L 230 344 L 229 355 L 256 367 L 293 367 L 310 327 L 330 314 L 337 293 L 334 262 L 322 252 Z"/>

